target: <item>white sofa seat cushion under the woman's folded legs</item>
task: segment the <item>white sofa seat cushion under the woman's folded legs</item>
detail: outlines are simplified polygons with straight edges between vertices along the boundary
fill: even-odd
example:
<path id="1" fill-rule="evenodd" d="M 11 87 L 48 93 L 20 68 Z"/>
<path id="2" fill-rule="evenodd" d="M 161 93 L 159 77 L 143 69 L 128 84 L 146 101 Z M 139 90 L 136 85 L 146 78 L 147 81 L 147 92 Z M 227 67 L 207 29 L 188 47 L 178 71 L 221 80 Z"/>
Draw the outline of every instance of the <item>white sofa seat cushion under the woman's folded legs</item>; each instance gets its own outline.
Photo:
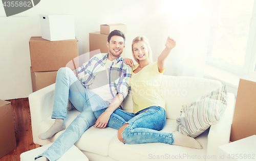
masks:
<path id="1" fill-rule="evenodd" d="M 177 126 L 176 120 L 166 119 L 166 124 L 161 130 L 172 132 Z M 204 149 L 192 149 L 182 146 L 169 145 L 164 143 L 147 144 L 123 144 L 117 137 L 114 137 L 110 144 L 109 156 L 116 160 L 193 160 L 193 157 L 206 155 L 207 133 L 203 133 L 196 140 Z M 199 156 L 200 155 L 200 156 Z"/>

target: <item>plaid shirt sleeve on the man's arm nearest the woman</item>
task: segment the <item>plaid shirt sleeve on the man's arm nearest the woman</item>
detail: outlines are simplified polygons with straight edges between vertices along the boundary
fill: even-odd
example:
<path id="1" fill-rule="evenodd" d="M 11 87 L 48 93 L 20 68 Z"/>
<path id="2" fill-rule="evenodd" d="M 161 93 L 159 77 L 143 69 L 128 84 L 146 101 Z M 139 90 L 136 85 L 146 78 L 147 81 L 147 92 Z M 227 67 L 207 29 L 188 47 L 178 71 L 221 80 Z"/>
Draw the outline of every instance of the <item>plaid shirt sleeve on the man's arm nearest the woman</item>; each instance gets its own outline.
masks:
<path id="1" fill-rule="evenodd" d="M 117 93 L 122 93 L 123 98 L 128 94 L 130 88 L 130 79 L 132 76 L 132 68 L 123 63 L 122 75 L 118 82 Z"/>

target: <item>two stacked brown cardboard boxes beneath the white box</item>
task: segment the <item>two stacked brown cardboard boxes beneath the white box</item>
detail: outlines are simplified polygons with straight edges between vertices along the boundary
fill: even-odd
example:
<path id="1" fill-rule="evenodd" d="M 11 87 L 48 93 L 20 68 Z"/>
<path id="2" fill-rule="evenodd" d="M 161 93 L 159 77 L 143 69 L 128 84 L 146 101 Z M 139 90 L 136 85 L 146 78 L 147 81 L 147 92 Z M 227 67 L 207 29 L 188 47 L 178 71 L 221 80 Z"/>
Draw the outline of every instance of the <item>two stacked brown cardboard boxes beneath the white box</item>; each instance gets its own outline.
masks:
<path id="1" fill-rule="evenodd" d="M 41 37 L 29 40 L 33 92 L 55 83 L 57 70 L 78 57 L 78 40 L 48 41 Z M 74 66 L 69 66 L 72 70 Z"/>

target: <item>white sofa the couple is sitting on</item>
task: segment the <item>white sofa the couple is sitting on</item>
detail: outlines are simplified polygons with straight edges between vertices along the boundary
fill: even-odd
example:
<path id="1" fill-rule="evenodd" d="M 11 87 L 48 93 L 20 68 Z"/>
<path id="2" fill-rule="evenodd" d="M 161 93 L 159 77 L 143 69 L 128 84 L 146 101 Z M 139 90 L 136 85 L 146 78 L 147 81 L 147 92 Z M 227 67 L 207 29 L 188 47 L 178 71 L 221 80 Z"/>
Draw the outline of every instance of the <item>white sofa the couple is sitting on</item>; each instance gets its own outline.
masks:
<path id="1" fill-rule="evenodd" d="M 172 132 L 180 116 L 182 105 L 195 101 L 198 97 L 221 87 L 218 81 L 196 77 L 163 76 L 162 96 L 166 101 L 166 124 L 161 131 Z M 33 141 L 35 144 L 46 145 L 54 142 L 63 132 L 56 133 L 48 140 L 40 140 L 39 133 L 45 132 L 53 124 L 51 119 L 54 87 L 48 86 L 29 95 Z M 124 101 L 124 110 L 132 112 L 132 96 Z M 218 123 L 210 126 L 196 138 L 203 149 L 149 143 L 129 145 L 117 139 L 117 130 L 110 127 L 104 129 L 90 127 L 75 145 L 89 160 L 217 160 L 218 146 L 229 143 L 230 129 L 233 118 L 234 95 L 228 93 L 228 106 Z M 68 111 L 65 119 L 66 127 L 76 118 L 78 111 Z"/>

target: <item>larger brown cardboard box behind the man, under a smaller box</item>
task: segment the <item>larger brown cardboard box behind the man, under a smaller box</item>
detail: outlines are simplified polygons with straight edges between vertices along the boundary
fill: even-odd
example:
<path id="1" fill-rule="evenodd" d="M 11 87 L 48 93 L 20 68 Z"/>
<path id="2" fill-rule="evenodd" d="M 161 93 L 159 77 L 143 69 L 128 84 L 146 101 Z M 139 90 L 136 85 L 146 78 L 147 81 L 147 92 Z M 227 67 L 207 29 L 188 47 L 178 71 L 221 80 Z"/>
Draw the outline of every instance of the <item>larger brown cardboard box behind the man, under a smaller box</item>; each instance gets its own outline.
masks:
<path id="1" fill-rule="evenodd" d="M 94 32 L 89 33 L 89 41 L 90 41 L 90 51 L 100 49 L 101 53 L 108 53 L 109 48 L 106 46 L 106 42 L 108 42 L 108 36 L 100 34 L 100 32 Z M 123 48 L 122 57 L 125 56 L 125 47 Z M 90 53 L 90 58 L 92 58 L 93 55 Z"/>

